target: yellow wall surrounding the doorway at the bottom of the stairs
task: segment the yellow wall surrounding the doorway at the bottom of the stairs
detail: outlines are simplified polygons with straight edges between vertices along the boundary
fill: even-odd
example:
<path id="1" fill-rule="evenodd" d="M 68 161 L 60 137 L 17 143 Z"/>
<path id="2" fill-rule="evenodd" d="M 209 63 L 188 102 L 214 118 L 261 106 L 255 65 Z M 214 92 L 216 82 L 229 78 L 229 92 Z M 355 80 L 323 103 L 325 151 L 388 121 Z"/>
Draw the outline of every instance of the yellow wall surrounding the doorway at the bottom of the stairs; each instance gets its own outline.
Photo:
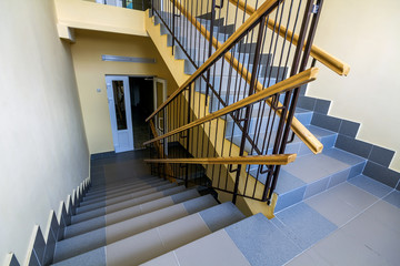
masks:
<path id="1" fill-rule="evenodd" d="M 150 38 L 94 31 L 76 33 L 77 42 L 71 50 L 89 151 L 91 154 L 113 151 L 106 74 L 157 75 L 167 79 L 169 94 L 178 85 Z M 157 63 L 101 61 L 102 54 L 156 58 Z"/>

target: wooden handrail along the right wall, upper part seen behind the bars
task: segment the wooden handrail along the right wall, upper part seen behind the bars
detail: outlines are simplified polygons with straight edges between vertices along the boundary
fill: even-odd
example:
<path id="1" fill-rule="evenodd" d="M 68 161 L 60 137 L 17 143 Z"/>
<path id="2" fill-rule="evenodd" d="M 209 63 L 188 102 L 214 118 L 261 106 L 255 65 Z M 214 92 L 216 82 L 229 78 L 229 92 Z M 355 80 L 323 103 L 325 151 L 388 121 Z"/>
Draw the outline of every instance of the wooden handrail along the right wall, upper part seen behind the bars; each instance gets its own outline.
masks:
<path id="1" fill-rule="evenodd" d="M 229 1 L 233 4 L 238 4 L 239 9 L 246 11 L 246 13 L 248 13 L 249 16 L 256 12 L 254 8 L 246 3 L 243 0 L 229 0 Z M 298 45 L 299 35 L 296 33 L 293 34 L 291 30 L 287 30 L 284 25 L 280 25 L 278 28 L 278 24 L 276 24 L 276 21 L 272 19 L 268 19 L 267 25 L 269 29 L 278 32 L 280 37 L 286 38 L 286 40 L 288 41 L 291 41 L 293 38 L 293 44 Z M 306 48 L 306 45 L 307 43 L 304 43 L 303 49 Z M 340 59 L 334 58 L 332 54 L 323 51 L 322 49 L 320 49 L 314 44 L 311 45 L 310 55 L 340 75 L 348 75 L 350 72 L 349 64 L 341 61 Z"/>

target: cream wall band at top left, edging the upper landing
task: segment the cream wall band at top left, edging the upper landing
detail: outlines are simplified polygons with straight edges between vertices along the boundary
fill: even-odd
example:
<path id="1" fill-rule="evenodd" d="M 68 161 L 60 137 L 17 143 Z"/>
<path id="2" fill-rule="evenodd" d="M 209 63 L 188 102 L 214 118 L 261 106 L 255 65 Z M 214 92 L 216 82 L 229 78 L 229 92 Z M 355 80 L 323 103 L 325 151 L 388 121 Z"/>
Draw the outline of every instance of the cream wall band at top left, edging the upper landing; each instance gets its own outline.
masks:
<path id="1" fill-rule="evenodd" d="M 54 0 L 58 23 L 74 29 L 147 35 L 144 12 L 82 0 Z"/>

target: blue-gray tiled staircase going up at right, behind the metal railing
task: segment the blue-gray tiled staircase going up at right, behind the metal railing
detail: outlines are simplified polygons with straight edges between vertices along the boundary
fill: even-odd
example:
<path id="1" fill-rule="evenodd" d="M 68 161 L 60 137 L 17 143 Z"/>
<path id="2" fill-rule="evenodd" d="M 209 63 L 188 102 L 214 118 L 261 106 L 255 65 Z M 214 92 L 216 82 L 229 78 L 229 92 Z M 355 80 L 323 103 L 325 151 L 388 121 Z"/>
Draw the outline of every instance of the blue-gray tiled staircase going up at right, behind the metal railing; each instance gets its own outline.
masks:
<path id="1" fill-rule="evenodd" d="M 168 14 L 163 14 L 168 17 Z M 210 31 L 210 14 L 206 13 L 202 16 L 197 17 L 197 20 Z M 223 21 L 223 18 L 220 18 Z M 176 18 L 176 24 L 186 24 L 187 22 L 184 18 Z M 160 35 L 167 35 L 168 45 L 172 45 L 172 37 L 168 31 L 167 27 L 162 23 L 158 16 L 153 17 L 154 27 L 160 27 Z M 233 33 L 233 24 L 231 25 L 219 25 L 218 21 L 214 22 L 213 32 L 214 37 L 218 38 L 220 42 L 224 42 L 232 33 Z M 201 65 L 204 62 L 204 54 L 208 53 L 208 45 L 203 45 L 202 43 L 208 43 L 204 38 L 193 35 L 188 38 L 186 32 L 188 30 L 181 30 L 178 28 L 176 30 L 176 34 L 178 40 L 182 43 L 187 43 L 189 48 L 187 49 L 191 55 L 191 58 L 199 59 L 197 61 L 198 65 Z M 194 27 L 192 27 L 190 31 L 197 31 Z M 190 41 L 190 39 L 192 39 Z M 154 40 L 156 41 L 156 40 Z M 203 47 L 204 49 L 194 48 L 191 49 L 190 44 Z M 254 54 L 251 53 L 252 49 L 250 48 L 253 43 L 241 43 L 240 49 L 238 49 L 236 53 L 236 58 L 241 59 L 244 63 L 252 62 Z M 184 54 L 182 49 L 179 45 L 172 48 L 174 50 L 174 59 L 177 61 L 184 60 L 184 74 L 191 75 L 197 70 L 192 62 L 188 59 L 188 55 Z M 212 51 L 214 52 L 214 50 Z M 259 81 L 264 82 L 266 84 L 273 85 L 277 82 L 284 79 L 284 74 L 288 70 L 284 68 L 274 66 L 270 62 L 271 54 L 261 54 L 261 71 L 259 72 Z M 217 62 L 216 69 L 222 69 L 223 59 L 220 59 Z M 224 62 L 227 64 L 227 62 Z M 251 71 L 252 65 L 249 65 L 249 71 Z M 268 71 L 266 71 L 268 69 Z M 269 75 L 264 75 L 268 72 Z M 277 79 L 277 73 L 281 73 L 279 79 Z M 229 76 L 230 74 L 230 76 Z M 229 73 L 229 69 L 223 69 L 222 73 L 213 73 L 212 79 L 214 79 L 214 89 L 220 91 L 220 98 L 226 100 L 227 105 L 232 104 L 239 100 L 242 100 L 244 95 L 228 95 L 227 96 L 227 88 L 234 86 L 236 82 L 242 82 L 246 84 L 246 81 L 242 78 L 238 78 L 238 73 L 236 71 Z M 196 91 L 201 93 L 206 96 L 206 82 L 202 80 L 197 80 L 196 83 Z M 307 96 L 304 96 L 306 86 L 302 88 L 301 98 L 299 105 L 302 106 L 302 102 L 307 101 Z M 280 94 L 280 102 L 283 102 L 284 94 Z M 269 119 L 269 111 L 270 108 L 266 105 L 263 108 L 263 116 L 262 119 L 258 119 L 259 110 L 261 109 L 261 104 L 254 104 L 251 119 L 249 122 L 249 135 L 252 140 L 256 140 L 256 145 L 261 146 L 264 142 L 266 135 L 270 132 L 266 132 L 268 119 Z M 207 106 L 207 112 L 212 113 L 222 108 L 221 103 L 218 101 L 214 94 L 210 93 L 209 96 L 209 104 Z M 313 122 L 314 111 L 296 108 L 294 117 L 303 124 L 307 130 L 313 134 L 322 144 L 323 144 L 323 152 L 320 154 L 313 154 L 308 146 L 298 137 L 294 136 L 293 140 L 287 144 L 286 153 L 293 153 L 297 154 L 297 160 L 289 164 L 281 167 L 279 182 L 277 183 L 276 193 L 279 195 L 278 202 L 276 205 L 274 211 L 279 212 L 284 209 L 296 203 L 300 203 L 313 195 L 317 195 L 323 191 L 327 191 L 347 180 L 350 180 L 354 176 L 358 176 L 362 173 L 367 160 L 362 158 L 358 155 L 351 154 L 343 150 L 336 147 L 336 141 L 338 137 L 337 132 L 332 132 L 320 126 L 317 126 Z M 223 119 L 222 119 L 223 120 Z M 260 122 L 261 121 L 261 122 Z M 233 146 L 239 147 L 242 141 L 242 131 L 234 124 L 233 120 L 228 116 L 224 119 L 224 136 L 226 140 L 233 143 Z M 261 124 L 257 127 L 257 123 Z M 276 134 L 277 126 L 272 129 L 272 135 Z M 273 139 L 273 137 L 272 137 Z M 266 153 L 270 154 L 272 149 L 266 151 Z M 244 152 L 249 155 L 257 155 L 252 145 L 249 142 L 246 142 Z M 259 165 L 250 165 L 246 170 L 250 176 L 257 178 L 261 183 L 266 183 L 267 173 L 260 173 Z"/>

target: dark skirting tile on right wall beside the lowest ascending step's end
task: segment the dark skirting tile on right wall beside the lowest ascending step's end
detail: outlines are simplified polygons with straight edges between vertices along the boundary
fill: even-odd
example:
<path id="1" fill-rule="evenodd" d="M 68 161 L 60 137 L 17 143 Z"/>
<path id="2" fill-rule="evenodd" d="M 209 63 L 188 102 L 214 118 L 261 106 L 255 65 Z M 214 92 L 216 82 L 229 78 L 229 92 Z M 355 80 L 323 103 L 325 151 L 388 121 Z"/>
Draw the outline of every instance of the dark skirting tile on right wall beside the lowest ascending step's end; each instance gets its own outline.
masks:
<path id="1" fill-rule="evenodd" d="M 367 162 L 366 168 L 362 174 L 393 188 L 397 186 L 400 180 L 400 173 L 373 163 L 371 161 Z"/>

